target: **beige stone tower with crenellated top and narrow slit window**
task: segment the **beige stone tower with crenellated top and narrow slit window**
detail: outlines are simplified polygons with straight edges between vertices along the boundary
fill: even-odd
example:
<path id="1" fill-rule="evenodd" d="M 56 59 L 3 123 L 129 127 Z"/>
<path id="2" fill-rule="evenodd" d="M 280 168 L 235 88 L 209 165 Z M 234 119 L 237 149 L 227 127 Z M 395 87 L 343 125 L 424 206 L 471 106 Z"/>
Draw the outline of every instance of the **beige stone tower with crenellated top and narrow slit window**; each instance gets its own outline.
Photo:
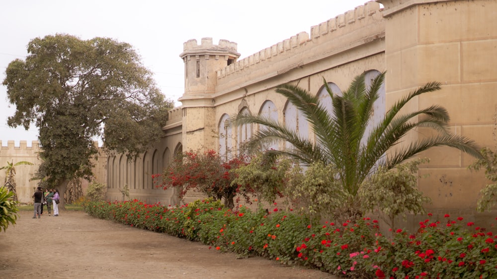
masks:
<path id="1" fill-rule="evenodd" d="M 182 103 L 183 151 L 217 150 L 216 72 L 240 57 L 237 44 L 220 40 L 219 45 L 213 45 L 212 38 L 202 38 L 198 45 L 197 40 L 188 40 L 179 56 L 185 65 L 185 91 L 179 99 Z"/>

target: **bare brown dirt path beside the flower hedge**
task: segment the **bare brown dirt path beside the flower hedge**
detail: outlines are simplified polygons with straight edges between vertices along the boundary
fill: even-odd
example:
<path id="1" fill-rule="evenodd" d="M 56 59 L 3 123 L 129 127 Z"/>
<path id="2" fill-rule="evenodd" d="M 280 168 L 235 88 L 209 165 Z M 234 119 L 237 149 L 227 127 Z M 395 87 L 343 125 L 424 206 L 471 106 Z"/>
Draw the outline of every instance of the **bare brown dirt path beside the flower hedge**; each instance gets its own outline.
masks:
<path id="1" fill-rule="evenodd" d="M 99 220 L 84 212 L 32 219 L 0 232 L 0 278 L 336 279 L 260 257 L 237 259 L 198 242 Z"/>

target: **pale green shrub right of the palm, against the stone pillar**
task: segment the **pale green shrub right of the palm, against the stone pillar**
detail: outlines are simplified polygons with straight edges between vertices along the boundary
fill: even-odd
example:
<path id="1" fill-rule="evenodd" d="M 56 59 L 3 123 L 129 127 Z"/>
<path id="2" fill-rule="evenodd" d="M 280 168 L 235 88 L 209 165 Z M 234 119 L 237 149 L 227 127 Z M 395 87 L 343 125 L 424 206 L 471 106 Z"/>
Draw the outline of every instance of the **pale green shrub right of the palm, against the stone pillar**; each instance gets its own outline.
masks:
<path id="1" fill-rule="evenodd" d="M 377 210 L 385 214 L 388 216 L 385 221 L 391 228 L 395 228 L 394 220 L 399 215 L 406 219 L 406 212 L 424 213 L 423 205 L 430 203 L 431 199 L 424 197 L 417 189 L 417 170 L 419 164 L 427 162 L 428 159 L 417 159 L 400 164 L 395 169 L 380 167 L 359 189 L 364 211 Z"/>

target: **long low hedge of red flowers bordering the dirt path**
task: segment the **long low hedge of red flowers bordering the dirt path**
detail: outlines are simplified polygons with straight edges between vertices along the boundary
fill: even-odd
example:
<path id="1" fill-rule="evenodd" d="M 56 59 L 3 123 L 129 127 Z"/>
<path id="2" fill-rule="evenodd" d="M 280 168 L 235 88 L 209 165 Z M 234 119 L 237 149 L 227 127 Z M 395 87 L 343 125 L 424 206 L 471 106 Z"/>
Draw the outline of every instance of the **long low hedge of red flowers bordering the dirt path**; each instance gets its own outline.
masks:
<path id="1" fill-rule="evenodd" d="M 303 215 L 233 210 L 207 199 L 164 207 L 138 200 L 88 202 L 95 217 L 187 238 L 220 251 L 258 255 L 351 278 L 496 278 L 497 239 L 490 231 L 445 215 L 426 219 L 416 233 L 379 232 L 378 221 L 312 223 Z M 431 214 L 428 214 L 431 218 Z"/>

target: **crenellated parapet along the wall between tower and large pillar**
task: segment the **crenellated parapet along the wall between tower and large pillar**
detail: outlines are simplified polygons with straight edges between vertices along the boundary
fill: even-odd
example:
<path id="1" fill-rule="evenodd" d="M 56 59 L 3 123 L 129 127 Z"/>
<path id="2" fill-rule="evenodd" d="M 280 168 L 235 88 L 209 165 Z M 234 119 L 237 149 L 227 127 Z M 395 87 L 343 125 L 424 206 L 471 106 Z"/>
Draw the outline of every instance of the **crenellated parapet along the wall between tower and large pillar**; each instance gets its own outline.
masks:
<path id="1" fill-rule="evenodd" d="M 316 40 L 337 40 L 338 37 L 350 34 L 352 31 L 369 24 L 383 20 L 380 14 L 380 4 L 375 1 L 366 2 L 353 10 L 337 15 L 325 22 L 311 27 L 311 36 L 307 32 L 300 32 L 290 39 L 279 42 L 258 53 L 252 54 L 244 59 L 238 60 L 221 70 L 217 71 L 217 78 L 222 79 L 227 75 L 264 64 L 264 61 L 282 59 L 286 53 L 298 52 L 299 48 Z M 346 42 L 344 42 L 345 44 Z M 291 54 L 290 54 L 291 55 Z"/>

